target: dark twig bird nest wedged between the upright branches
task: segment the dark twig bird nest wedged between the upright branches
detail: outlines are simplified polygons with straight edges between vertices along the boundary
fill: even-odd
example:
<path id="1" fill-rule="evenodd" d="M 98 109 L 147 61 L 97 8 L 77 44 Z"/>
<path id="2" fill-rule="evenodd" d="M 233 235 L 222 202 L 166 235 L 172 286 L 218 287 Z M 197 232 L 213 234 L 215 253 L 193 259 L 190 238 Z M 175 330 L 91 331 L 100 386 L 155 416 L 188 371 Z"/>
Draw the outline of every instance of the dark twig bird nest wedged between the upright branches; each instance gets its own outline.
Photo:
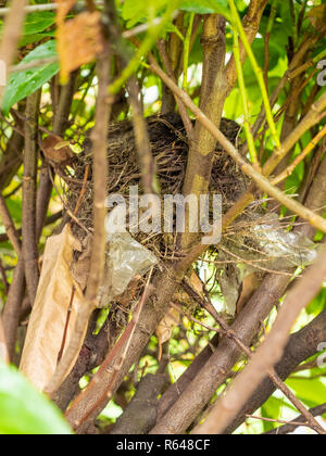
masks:
<path id="1" fill-rule="evenodd" d="M 147 118 L 152 154 L 161 194 L 181 194 L 189 151 L 184 125 L 177 114 L 152 116 Z M 223 119 L 223 134 L 236 144 L 240 127 L 234 121 Z M 83 191 L 86 169 L 88 183 L 83 197 L 83 204 L 78 210 L 79 224 L 74 228 L 80 239 L 85 236 L 85 228 L 92 228 L 92 177 L 91 177 L 91 140 L 87 138 L 83 152 L 74 160 L 74 178 L 68 179 L 65 202 L 74 212 Z M 89 166 L 87 166 L 89 165 Z M 108 195 L 121 194 L 128 199 L 129 188 L 139 186 L 142 191 L 141 170 L 138 164 L 138 152 L 134 136 L 133 124 L 129 121 L 112 123 L 108 136 Z M 216 147 L 210 182 L 210 193 L 221 194 L 223 213 L 225 213 L 246 190 L 248 179 L 221 147 Z M 85 185 L 84 185 L 85 187 Z M 82 228 L 80 228 L 82 227 Z M 166 238 L 164 236 L 146 236 L 139 233 L 137 240 L 150 249 L 154 249 L 160 257 L 166 256 Z"/>

